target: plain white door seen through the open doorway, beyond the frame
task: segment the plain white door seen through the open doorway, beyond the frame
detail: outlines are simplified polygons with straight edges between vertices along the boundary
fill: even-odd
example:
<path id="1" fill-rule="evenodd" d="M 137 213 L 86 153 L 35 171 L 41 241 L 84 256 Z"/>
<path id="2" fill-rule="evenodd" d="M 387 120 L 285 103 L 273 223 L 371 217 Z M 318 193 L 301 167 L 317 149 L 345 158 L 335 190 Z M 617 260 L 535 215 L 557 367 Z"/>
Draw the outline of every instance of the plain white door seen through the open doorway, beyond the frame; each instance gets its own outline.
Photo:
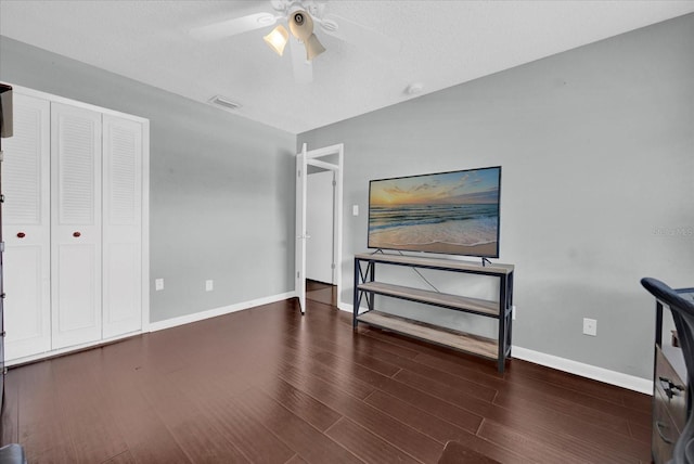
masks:
<path id="1" fill-rule="evenodd" d="M 306 279 L 333 284 L 334 179 L 335 171 L 311 172 L 307 177 Z"/>

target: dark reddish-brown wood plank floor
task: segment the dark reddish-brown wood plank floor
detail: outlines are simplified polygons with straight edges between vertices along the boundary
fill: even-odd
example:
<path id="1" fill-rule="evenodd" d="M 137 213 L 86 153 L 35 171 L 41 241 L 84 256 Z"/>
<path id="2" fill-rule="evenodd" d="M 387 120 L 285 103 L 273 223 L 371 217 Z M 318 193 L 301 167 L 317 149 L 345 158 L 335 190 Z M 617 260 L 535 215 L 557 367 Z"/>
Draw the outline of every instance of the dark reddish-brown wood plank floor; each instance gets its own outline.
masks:
<path id="1" fill-rule="evenodd" d="M 2 442 L 31 464 L 435 463 L 449 440 L 502 463 L 650 462 L 650 397 L 354 333 L 320 289 L 305 317 L 282 301 L 11 369 Z"/>

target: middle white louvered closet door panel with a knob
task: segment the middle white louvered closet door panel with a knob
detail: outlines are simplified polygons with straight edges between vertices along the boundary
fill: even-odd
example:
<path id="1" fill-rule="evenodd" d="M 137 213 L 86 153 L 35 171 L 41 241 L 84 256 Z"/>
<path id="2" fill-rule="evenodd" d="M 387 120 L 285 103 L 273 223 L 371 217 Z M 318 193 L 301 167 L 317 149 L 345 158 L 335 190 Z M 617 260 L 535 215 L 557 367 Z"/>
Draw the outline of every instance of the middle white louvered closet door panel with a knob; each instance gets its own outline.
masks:
<path id="1" fill-rule="evenodd" d="M 101 339 L 101 114 L 51 105 L 53 349 Z"/>

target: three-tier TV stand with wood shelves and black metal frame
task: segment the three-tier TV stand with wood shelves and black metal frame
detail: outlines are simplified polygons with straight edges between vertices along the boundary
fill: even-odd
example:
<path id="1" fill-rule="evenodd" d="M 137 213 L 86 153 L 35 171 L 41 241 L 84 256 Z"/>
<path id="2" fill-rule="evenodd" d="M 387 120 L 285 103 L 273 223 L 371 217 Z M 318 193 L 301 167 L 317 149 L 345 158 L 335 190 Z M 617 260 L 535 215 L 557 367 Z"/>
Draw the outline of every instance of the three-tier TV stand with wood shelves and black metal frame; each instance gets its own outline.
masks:
<path id="1" fill-rule="evenodd" d="M 494 301 L 483 300 L 466 296 L 445 294 L 437 291 L 426 291 L 378 282 L 375 280 L 376 265 L 409 267 L 415 271 L 419 269 L 430 269 L 442 272 L 488 275 L 499 279 L 499 299 Z M 511 357 L 513 273 L 513 265 L 492 265 L 490 262 L 488 266 L 485 266 L 484 263 L 480 265 L 471 261 L 403 255 L 355 255 L 352 326 L 357 330 L 358 323 L 361 322 L 374 327 L 388 330 L 401 335 L 496 360 L 499 372 L 503 373 L 505 360 Z M 481 337 L 378 311 L 374 305 L 375 295 L 497 319 L 499 326 L 498 337 L 496 339 Z M 367 308 L 365 311 L 360 312 L 360 309 L 362 309 L 362 300 L 367 302 Z"/>

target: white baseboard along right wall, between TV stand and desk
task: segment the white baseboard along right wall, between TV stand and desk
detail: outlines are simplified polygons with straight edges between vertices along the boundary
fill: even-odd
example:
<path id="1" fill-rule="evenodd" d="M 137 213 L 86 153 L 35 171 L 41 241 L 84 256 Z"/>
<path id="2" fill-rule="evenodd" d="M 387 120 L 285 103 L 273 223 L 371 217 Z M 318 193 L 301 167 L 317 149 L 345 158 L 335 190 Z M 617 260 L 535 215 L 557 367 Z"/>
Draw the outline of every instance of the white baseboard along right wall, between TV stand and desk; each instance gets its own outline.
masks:
<path id="1" fill-rule="evenodd" d="M 648 378 L 622 374 L 621 372 L 611 371 L 608 369 L 597 368 L 595 365 L 584 364 L 517 346 L 512 347 L 511 355 L 513 358 L 568 372 L 569 374 L 580 375 L 581 377 L 592 378 L 593 381 L 604 382 L 605 384 L 628 388 L 641 394 L 653 395 L 653 381 Z"/>

